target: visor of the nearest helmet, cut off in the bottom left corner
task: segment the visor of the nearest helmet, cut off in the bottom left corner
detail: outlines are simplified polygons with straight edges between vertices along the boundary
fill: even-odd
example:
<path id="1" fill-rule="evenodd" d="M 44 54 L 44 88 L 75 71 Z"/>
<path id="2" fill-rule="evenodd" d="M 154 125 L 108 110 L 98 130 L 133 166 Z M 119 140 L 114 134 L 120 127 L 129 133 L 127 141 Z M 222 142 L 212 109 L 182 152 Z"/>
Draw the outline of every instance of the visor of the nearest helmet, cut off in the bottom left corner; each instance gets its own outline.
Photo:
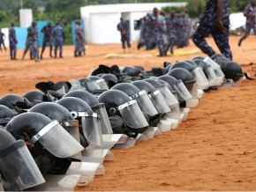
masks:
<path id="1" fill-rule="evenodd" d="M 23 140 L 0 151 L 0 169 L 12 190 L 32 188 L 45 182 Z"/>

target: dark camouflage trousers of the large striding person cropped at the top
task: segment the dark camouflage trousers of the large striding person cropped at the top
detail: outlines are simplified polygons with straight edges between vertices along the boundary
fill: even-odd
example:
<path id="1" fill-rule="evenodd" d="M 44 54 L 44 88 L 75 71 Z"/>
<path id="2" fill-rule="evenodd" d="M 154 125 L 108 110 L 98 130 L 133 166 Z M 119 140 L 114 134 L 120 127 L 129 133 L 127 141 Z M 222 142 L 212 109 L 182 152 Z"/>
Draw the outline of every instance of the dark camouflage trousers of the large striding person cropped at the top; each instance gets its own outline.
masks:
<path id="1" fill-rule="evenodd" d="M 205 38 L 211 33 L 215 39 L 217 47 L 222 52 L 222 55 L 225 55 L 232 61 L 232 53 L 229 44 L 229 26 L 225 26 L 226 31 L 221 32 L 218 26 L 204 26 L 200 25 L 193 34 L 192 41 L 199 47 L 202 52 L 212 56 L 215 55 L 215 50 L 207 44 Z"/>

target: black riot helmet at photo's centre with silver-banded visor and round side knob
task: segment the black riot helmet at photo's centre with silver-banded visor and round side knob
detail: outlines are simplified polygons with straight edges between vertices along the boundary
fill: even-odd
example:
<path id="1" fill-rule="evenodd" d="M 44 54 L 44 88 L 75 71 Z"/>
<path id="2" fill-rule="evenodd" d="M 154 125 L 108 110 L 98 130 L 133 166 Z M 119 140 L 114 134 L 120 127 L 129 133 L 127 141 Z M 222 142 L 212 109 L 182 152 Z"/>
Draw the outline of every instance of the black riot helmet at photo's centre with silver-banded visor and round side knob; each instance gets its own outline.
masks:
<path id="1" fill-rule="evenodd" d="M 123 119 L 128 128 L 140 129 L 148 126 L 144 114 L 136 100 L 119 90 L 103 92 L 98 100 L 105 104 L 109 116 L 117 115 Z"/>

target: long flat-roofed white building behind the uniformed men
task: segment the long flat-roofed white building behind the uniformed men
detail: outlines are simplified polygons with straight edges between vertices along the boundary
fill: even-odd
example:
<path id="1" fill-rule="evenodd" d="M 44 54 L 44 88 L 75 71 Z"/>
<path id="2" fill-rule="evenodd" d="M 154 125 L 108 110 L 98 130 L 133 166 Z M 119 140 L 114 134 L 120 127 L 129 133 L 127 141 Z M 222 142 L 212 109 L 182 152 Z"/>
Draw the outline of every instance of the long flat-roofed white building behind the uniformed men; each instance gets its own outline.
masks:
<path id="1" fill-rule="evenodd" d="M 165 6 L 185 6 L 186 3 L 157 4 L 107 4 L 90 5 L 80 8 L 84 20 L 88 43 L 120 43 L 121 35 L 117 31 L 120 18 L 130 21 L 131 41 L 139 40 L 139 30 L 134 29 L 134 21 L 152 13 L 154 7 L 159 10 Z"/>

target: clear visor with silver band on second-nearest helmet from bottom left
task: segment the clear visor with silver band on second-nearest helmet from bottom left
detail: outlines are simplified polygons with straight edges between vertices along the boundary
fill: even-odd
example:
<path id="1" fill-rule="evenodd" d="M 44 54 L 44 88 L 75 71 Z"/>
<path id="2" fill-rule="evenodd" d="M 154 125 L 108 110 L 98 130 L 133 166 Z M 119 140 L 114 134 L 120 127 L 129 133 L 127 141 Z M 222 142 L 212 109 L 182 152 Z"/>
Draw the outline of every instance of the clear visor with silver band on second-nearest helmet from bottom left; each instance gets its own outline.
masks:
<path id="1" fill-rule="evenodd" d="M 41 129 L 30 141 L 39 141 L 51 154 L 57 158 L 68 158 L 83 151 L 79 142 L 72 137 L 57 121 L 50 122 Z"/>

